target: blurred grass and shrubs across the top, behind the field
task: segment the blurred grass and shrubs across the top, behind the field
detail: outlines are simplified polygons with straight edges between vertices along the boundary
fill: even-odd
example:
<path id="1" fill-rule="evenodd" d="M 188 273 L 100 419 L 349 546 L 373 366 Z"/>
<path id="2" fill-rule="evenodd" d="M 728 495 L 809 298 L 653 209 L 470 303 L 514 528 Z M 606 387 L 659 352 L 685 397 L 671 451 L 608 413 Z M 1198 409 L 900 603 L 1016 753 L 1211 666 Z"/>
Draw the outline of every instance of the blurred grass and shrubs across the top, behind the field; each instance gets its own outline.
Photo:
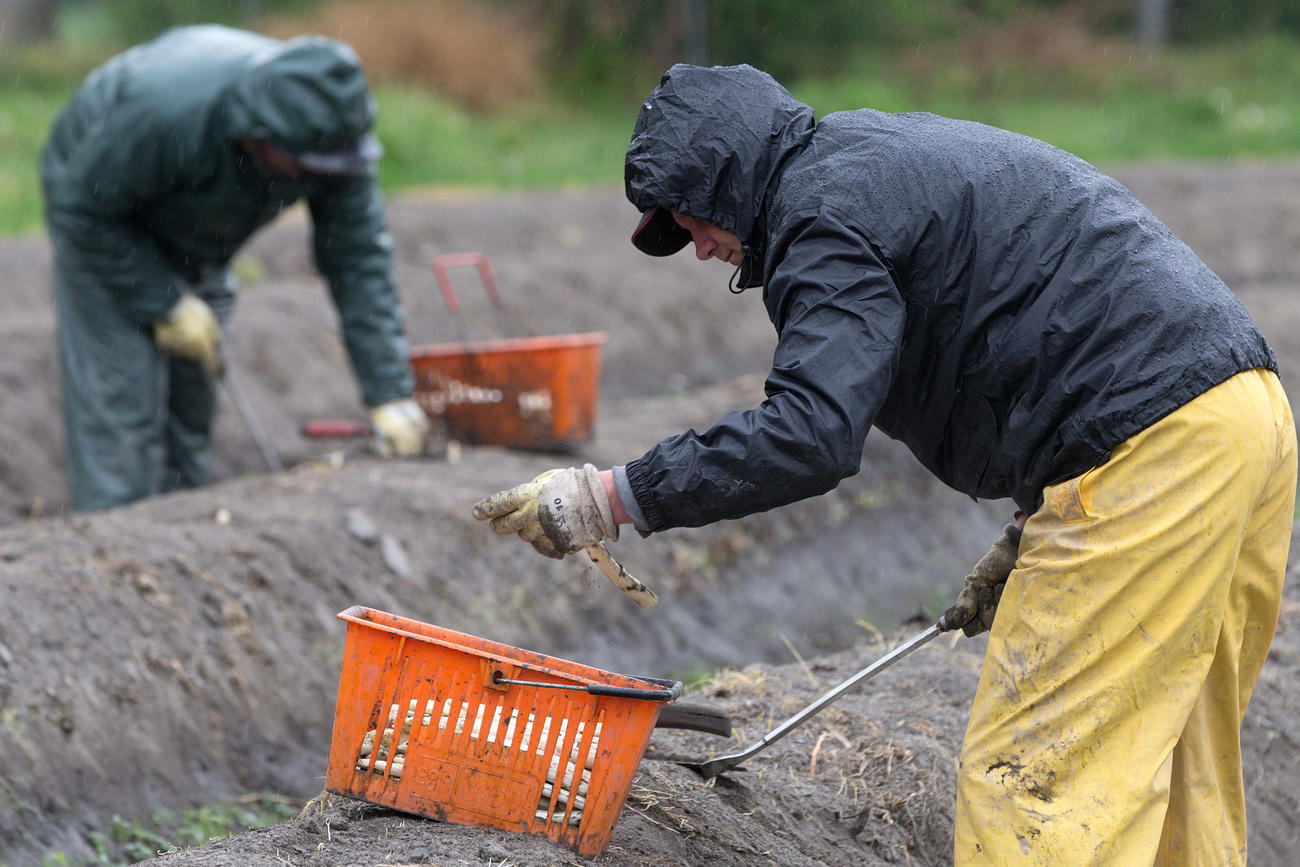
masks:
<path id="1" fill-rule="evenodd" d="M 176 25 L 350 42 L 385 188 L 618 185 L 676 61 L 749 62 L 819 114 L 928 110 L 1098 164 L 1300 152 L 1296 0 L 0 0 L 0 233 L 40 226 L 55 113 Z"/>

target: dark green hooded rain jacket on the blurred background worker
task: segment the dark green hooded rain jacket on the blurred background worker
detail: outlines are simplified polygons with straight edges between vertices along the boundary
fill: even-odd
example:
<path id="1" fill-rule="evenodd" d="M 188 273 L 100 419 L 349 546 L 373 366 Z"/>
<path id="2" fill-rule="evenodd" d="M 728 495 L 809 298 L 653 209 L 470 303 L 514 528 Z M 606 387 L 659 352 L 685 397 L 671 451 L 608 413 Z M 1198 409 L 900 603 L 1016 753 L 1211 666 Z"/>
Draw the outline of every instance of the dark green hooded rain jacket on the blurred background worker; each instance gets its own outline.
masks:
<path id="1" fill-rule="evenodd" d="M 329 151 L 358 140 L 374 103 L 356 55 L 320 36 L 281 42 L 177 27 L 92 71 L 42 156 L 46 220 L 73 289 L 107 286 L 142 326 L 306 199 L 316 266 L 369 406 L 411 395 L 393 243 L 376 170 L 270 175 L 240 146 Z"/>

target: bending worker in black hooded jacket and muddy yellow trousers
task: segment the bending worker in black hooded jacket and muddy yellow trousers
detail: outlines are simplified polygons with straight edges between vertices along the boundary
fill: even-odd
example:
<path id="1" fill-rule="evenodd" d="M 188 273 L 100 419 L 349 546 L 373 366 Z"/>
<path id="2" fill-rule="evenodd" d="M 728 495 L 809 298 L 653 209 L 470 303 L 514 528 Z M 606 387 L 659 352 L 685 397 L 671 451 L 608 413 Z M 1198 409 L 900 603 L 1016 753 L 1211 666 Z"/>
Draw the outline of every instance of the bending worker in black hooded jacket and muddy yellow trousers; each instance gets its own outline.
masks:
<path id="1" fill-rule="evenodd" d="M 1296 441 L 1232 292 L 1069 153 L 931 114 L 818 121 L 749 66 L 668 70 L 625 181 L 637 248 L 694 243 L 763 287 L 767 399 L 476 516 L 550 556 L 740 517 L 835 487 L 875 425 L 1020 512 L 942 617 L 991 627 L 956 862 L 1244 863 L 1238 738 Z"/>

